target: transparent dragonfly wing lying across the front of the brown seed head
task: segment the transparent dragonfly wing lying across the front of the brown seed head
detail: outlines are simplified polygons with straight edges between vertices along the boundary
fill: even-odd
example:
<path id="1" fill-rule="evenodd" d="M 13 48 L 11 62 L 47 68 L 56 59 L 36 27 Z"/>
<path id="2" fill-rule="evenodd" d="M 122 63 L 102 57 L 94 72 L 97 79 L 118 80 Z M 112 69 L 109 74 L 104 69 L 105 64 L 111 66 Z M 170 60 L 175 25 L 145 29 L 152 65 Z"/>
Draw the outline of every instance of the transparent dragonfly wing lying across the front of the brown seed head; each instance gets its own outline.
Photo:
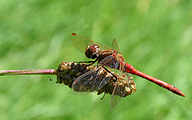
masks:
<path id="1" fill-rule="evenodd" d="M 101 89 L 111 80 L 107 74 L 108 72 L 102 67 L 86 72 L 73 82 L 73 93 L 94 92 Z"/>

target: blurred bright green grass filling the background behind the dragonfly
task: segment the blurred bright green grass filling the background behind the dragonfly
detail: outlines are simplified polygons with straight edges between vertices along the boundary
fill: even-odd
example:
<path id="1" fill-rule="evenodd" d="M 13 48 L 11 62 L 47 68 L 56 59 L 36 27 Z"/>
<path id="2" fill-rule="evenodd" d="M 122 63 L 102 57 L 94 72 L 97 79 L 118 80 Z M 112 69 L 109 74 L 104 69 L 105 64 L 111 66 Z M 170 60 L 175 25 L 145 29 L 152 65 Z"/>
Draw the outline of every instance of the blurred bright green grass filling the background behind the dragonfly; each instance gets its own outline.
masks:
<path id="1" fill-rule="evenodd" d="M 138 91 L 111 112 L 110 97 L 73 95 L 55 76 L 0 77 L 1 119 L 192 119 L 192 1 L 0 2 L 0 69 L 57 68 L 87 60 L 72 32 L 111 46 L 126 61 L 182 90 L 174 95 L 137 76 Z M 49 77 L 54 81 L 50 82 Z"/>

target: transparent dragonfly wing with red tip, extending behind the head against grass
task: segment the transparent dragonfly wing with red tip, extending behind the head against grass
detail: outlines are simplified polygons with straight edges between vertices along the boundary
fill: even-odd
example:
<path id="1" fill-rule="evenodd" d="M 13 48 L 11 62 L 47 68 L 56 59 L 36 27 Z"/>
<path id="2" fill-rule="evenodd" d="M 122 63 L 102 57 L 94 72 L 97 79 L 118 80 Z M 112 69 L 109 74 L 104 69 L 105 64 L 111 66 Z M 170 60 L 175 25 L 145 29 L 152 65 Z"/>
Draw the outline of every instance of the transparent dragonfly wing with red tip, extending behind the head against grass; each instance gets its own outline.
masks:
<path id="1" fill-rule="evenodd" d="M 69 41 L 73 44 L 73 46 L 75 48 L 77 48 L 79 51 L 81 51 L 83 53 L 85 53 L 87 46 L 92 45 L 92 44 L 98 45 L 102 50 L 111 49 L 107 45 L 104 45 L 104 44 L 99 43 L 99 42 L 93 42 L 92 40 L 90 40 L 86 37 L 83 37 L 79 34 L 76 34 L 76 33 L 72 33 L 69 36 Z"/>

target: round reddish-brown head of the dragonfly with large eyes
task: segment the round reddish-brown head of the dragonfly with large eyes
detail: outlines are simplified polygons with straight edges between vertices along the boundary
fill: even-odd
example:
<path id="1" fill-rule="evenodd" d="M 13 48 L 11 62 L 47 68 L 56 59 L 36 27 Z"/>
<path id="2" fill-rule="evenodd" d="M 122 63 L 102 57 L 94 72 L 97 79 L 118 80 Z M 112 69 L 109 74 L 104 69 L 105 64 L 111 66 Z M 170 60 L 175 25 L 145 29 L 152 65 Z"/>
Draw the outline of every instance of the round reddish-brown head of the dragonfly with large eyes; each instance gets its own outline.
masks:
<path id="1" fill-rule="evenodd" d="M 85 55 L 89 59 L 95 59 L 98 58 L 100 55 L 100 48 L 98 45 L 88 45 L 85 51 Z"/>

